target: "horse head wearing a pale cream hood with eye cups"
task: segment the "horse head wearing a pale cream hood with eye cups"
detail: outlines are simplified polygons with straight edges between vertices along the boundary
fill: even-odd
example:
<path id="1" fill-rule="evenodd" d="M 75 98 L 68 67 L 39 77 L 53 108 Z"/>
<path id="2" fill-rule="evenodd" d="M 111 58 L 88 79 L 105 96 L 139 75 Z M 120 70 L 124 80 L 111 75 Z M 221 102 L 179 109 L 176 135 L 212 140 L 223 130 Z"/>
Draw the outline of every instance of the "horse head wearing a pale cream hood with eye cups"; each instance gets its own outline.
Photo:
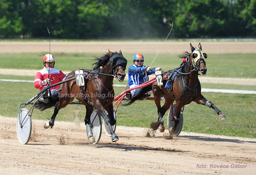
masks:
<path id="1" fill-rule="evenodd" d="M 207 58 L 207 54 L 203 53 L 202 45 L 199 43 L 198 47 L 193 47 L 190 43 L 191 51 L 190 59 L 192 60 L 192 65 L 195 67 L 197 71 L 200 71 L 201 75 L 206 74 L 206 63 L 204 59 Z"/>

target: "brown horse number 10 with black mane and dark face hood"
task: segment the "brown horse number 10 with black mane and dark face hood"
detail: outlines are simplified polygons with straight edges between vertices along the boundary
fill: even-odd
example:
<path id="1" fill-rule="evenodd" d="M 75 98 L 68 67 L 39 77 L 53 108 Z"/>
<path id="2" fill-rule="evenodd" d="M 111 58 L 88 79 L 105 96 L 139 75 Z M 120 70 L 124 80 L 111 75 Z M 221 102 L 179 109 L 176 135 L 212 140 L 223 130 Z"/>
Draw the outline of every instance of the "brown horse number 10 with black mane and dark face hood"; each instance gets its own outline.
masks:
<path id="1" fill-rule="evenodd" d="M 68 74 L 66 80 L 71 78 L 74 80 L 63 84 L 57 98 L 52 97 L 50 98 L 52 100 L 50 100 L 49 103 L 45 104 L 40 102 L 40 104 L 36 105 L 36 108 L 40 110 L 45 110 L 55 106 L 52 118 L 44 124 L 44 128 L 52 128 L 59 110 L 66 107 L 76 97 L 76 99 L 84 104 L 86 108 L 84 122 L 89 141 L 95 142 L 92 134 L 92 128 L 90 127 L 90 117 L 93 112 L 93 108 L 99 112 L 108 125 L 112 142 L 119 140 L 111 127 L 116 123 L 113 110 L 113 101 L 115 97 L 113 79 L 116 77 L 119 81 L 124 81 L 124 70 L 126 68 L 127 60 L 124 58 L 120 50 L 119 53 L 109 51 L 102 57 L 96 58 L 95 61 L 96 62 L 93 63 L 93 65 L 95 65 L 93 70 L 84 70 L 84 86 L 78 86 L 76 84 L 76 79 L 74 79 L 75 71 L 72 71 Z M 108 112 L 108 115 L 104 109 Z"/>

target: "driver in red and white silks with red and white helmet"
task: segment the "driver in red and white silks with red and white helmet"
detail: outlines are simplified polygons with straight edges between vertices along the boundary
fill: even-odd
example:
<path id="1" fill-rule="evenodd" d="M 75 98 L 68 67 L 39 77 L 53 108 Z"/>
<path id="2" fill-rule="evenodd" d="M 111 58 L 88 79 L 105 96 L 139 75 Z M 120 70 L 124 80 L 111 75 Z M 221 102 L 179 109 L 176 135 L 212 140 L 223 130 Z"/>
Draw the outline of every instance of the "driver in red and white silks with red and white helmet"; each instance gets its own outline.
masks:
<path id="1" fill-rule="evenodd" d="M 55 59 L 51 54 L 46 54 L 43 57 L 44 68 L 36 73 L 34 86 L 40 91 L 43 90 L 44 86 L 59 83 L 66 79 L 66 75 L 59 69 L 54 69 Z M 50 70 L 49 70 L 50 69 Z M 51 93 L 60 89 L 60 85 L 51 88 Z M 48 92 L 48 96 L 50 93 Z"/>

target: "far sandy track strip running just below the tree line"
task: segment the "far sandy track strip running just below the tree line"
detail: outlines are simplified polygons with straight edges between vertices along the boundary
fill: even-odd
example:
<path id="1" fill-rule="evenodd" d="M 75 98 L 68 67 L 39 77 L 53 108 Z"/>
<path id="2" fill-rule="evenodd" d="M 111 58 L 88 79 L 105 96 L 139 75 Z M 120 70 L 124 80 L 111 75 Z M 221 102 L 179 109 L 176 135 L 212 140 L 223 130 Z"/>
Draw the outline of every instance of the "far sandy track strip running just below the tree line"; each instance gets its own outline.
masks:
<path id="1" fill-rule="evenodd" d="M 106 53 L 122 50 L 123 53 L 157 54 L 163 41 L 85 41 L 59 42 L 51 41 L 51 53 Z M 194 47 L 199 42 L 191 42 Z M 201 42 L 205 53 L 256 53 L 255 41 L 243 42 Z M 0 42 L 1 53 L 49 53 L 49 42 Z M 182 54 L 190 51 L 189 42 L 166 41 L 161 48 L 161 54 Z"/>

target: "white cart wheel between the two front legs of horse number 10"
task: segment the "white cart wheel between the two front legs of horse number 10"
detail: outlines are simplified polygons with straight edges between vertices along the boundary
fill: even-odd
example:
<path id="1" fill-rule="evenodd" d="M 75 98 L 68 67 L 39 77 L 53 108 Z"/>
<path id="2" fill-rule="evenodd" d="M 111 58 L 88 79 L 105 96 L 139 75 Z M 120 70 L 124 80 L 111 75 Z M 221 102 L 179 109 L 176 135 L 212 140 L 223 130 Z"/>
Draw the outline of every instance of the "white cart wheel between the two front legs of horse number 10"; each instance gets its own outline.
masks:
<path id="1" fill-rule="evenodd" d="M 92 128 L 93 137 L 95 138 L 95 142 L 91 142 L 91 143 L 97 144 L 100 141 L 101 132 L 102 132 L 102 124 L 101 124 L 100 114 L 98 113 L 98 111 L 96 109 L 93 109 L 93 112 L 91 115 L 90 126 Z M 87 133 L 87 137 L 88 137 L 88 133 Z M 89 139 L 89 141 L 90 141 L 90 139 Z"/>

